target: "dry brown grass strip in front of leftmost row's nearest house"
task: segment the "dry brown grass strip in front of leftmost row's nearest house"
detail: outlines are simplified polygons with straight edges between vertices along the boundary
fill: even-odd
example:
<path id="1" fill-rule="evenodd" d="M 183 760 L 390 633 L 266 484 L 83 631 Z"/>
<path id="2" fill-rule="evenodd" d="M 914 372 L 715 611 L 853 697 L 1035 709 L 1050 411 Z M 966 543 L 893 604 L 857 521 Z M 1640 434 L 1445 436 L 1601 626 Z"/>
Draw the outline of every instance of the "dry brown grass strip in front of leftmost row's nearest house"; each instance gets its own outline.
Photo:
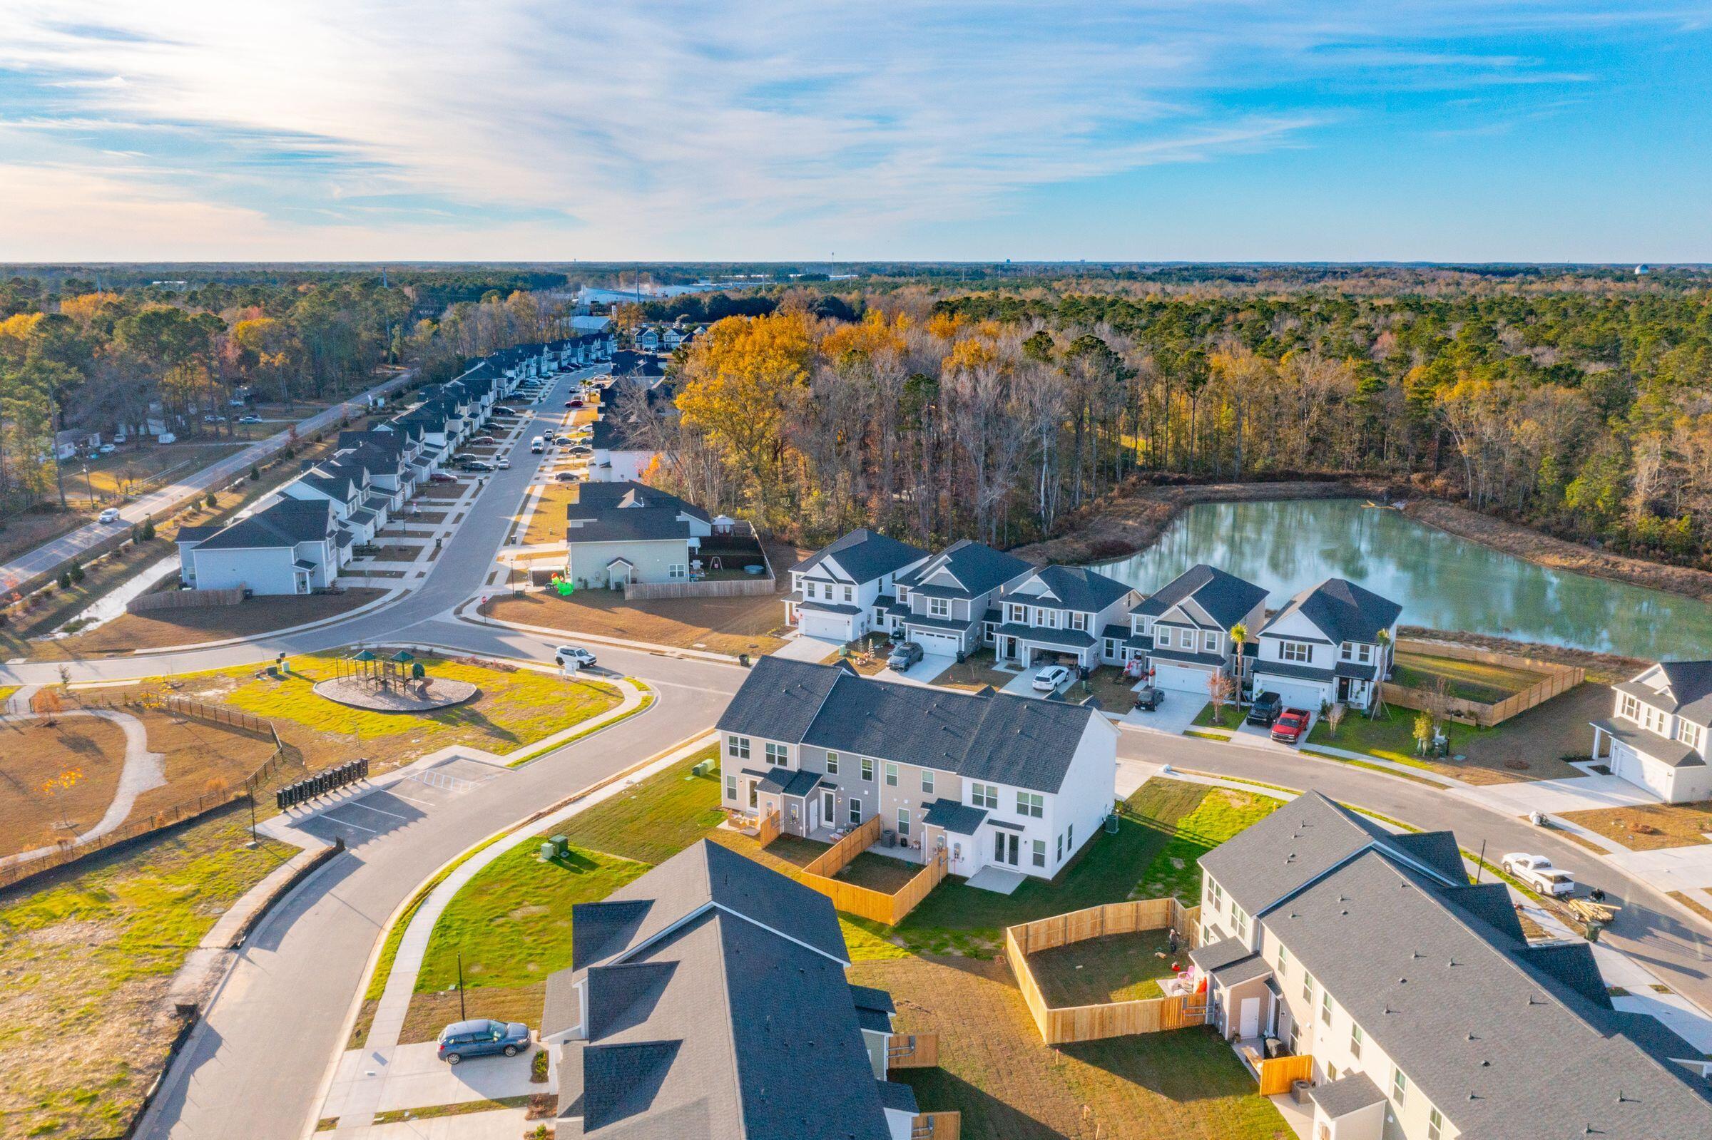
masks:
<path id="1" fill-rule="evenodd" d="M 406 548 L 401 548 L 406 549 Z M 407 548 L 411 555 L 419 548 Z M 74 661 L 101 654 L 128 654 L 134 649 L 166 645 L 200 645 L 229 637 L 260 637 L 308 621 L 324 621 L 366 606 L 382 596 L 375 589 L 348 589 L 342 594 L 306 594 L 303 597 L 252 597 L 236 606 L 192 606 L 188 609 L 151 609 L 127 613 L 89 633 L 74 633 L 51 642 L 33 642 L 38 661 Z"/>

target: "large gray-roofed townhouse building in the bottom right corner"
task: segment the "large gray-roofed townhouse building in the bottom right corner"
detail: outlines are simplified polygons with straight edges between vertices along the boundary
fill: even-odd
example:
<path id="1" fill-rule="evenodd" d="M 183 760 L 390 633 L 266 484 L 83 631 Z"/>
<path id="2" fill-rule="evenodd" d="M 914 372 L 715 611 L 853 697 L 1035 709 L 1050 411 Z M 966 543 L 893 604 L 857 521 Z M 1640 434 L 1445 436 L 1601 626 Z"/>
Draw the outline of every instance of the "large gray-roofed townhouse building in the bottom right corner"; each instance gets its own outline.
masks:
<path id="1" fill-rule="evenodd" d="M 1315 1140 L 1712 1135 L 1700 1053 L 1614 1008 L 1589 943 L 1531 943 L 1450 832 L 1308 793 L 1200 868 L 1181 984 L 1224 1037 L 1311 1058 Z"/>

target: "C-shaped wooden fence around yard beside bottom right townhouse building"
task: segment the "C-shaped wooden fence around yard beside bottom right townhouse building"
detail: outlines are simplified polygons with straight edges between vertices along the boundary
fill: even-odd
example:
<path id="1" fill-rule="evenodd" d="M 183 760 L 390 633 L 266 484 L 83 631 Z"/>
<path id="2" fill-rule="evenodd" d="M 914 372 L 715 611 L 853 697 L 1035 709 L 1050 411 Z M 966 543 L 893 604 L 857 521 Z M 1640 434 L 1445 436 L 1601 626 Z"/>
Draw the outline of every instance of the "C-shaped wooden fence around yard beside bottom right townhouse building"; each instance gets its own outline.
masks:
<path id="1" fill-rule="evenodd" d="M 1185 907 L 1176 899 L 1138 899 L 1007 926 L 1005 962 L 1017 979 L 1017 989 L 1022 991 L 1022 1001 L 1034 1017 L 1041 1041 L 1070 1044 L 1205 1024 L 1207 1000 L 1204 995 L 1053 1006 L 1046 1003 L 1039 983 L 1034 981 L 1034 971 L 1029 967 L 1029 953 L 1036 950 L 1144 929 L 1176 929 L 1183 936 L 1183 945 L 1192 947 L 1200 907 Z"/>

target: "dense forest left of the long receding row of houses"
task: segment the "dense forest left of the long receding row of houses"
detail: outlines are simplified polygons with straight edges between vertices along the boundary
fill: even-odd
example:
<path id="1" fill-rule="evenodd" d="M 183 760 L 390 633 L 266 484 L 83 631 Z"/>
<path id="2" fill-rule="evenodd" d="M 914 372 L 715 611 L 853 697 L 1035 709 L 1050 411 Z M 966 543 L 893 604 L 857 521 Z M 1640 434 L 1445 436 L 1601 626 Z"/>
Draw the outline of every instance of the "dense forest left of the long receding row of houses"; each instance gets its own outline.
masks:
<path id="1" fill-rule="evenodd" d="M 401 365 L 425 380 L 558 335 L 563 274 L 233 270 L 161 281 L 137 270 L 0 281 L 0 517 L 53 500 L 60 430 L 202 416 L 240 385 L 291 407 L 346 397 Z M 200 414 L 199 414 L 200 413 Z"/>

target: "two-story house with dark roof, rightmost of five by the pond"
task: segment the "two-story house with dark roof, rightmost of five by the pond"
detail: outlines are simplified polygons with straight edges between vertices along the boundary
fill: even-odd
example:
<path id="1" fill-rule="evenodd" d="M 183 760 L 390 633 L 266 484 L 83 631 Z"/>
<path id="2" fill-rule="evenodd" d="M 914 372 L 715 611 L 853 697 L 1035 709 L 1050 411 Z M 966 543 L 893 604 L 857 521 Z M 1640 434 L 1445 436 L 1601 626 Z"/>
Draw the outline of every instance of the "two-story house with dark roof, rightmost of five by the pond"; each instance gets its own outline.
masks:
<path id="1" fill-rule="evenodd" d="M 1366 709 L 1390 673 L 1400 613 L 1344 579 L 1305 589 L 1260 626 L 1253 692 L 1308 712 L 1335 702 Z"/>

